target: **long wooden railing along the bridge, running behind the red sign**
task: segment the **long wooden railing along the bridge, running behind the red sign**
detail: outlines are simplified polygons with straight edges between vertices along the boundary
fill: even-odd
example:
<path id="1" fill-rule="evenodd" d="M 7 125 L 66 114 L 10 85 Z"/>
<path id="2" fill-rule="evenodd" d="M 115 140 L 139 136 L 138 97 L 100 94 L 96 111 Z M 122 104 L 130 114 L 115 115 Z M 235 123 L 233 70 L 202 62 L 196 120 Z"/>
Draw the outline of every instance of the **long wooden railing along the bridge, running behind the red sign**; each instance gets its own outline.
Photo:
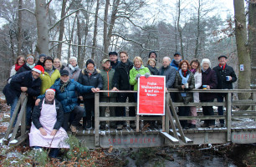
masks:
<path id="1" fill-rule="evenodd" d="M 225 95 L 225 101 L 224 102 L 199 102 L 199 103 L 189 103 L 189 104 L 183 104 L 183 103 L 174 103 L 172 102 L 172 99 L 170 98 L 170 94 L 166 94 L 166 115 L 165 116 L 152 116 L 152 117 L 139 117 L 139 115 L 136 114 L 136 117 L 100 117 L 100 107 L 136 107 L 136 103 L 107 103 L 107 102 L 100 102 L 100 93 L 103 92 L 111 92 L 111 93 L 136 93 L 136 91 L 105 91 L 101 90 L 99 93 L 95 93 L 95 146 L 100 145 L 100 137 L 99 137 L 99 124 L 100 121 L 135 121 L 136 120 L 136 132 L 139 132 L 139 120 L 162 120 L 162 131 L 169 132 L 169 122 L 171 123 L 172 128 L 174 129 L 174 124 L 172 124 L 172 121 L 170 119 L 173 119 L 172 115 L 176 116 L 177 114 L 174 107 L 178 106 L 223 106 L 226 108 L 225 115 L 198 115 L 196 117 L 193 116 L 179 116 L 177 119 L 179 120 L 191 120 L 191 119 L 225 119 L 226 121 L 226 127 L 227 127 L 227 141 L 231 141 L 231 122 L 232 119 L 256 119 L 256 111 L 255 111 L 255 105 L 256 105 L 256 90 L 253 89 L 197 89 L 197 90 L 191 90 L 189 92 L 192 93 L 212 93 L 212 94 L 226 94 Z M 181 93 L 181 91 L 177 89 L 168 89 L 169 93 Z M 249 93 L 252 94 L 252 99 L 248 100 L 233 100 L 232 94 L 233 93 Z M 236 114 L 232 115 L 232 105 L 249 105 L 252 106 L 252 109 L 249 111 L 238 111 L 233 112 Z M 171 108 L 171 111 L 169 110 L 169 106 Z M 172 114 L 171 114 L 172 112 Z M 174 118 L 175 119 L 175 118 Z M 177 121 L 178 122 L 178 121 Z M 183 133 L 182 129 L 180 127 L 180 124 L 177 123 L 179 133 Z M 177 136 L 178 134 L 175 134 Z M 184 134 L 182 135 L 182 140 L 185 140 Z"/>

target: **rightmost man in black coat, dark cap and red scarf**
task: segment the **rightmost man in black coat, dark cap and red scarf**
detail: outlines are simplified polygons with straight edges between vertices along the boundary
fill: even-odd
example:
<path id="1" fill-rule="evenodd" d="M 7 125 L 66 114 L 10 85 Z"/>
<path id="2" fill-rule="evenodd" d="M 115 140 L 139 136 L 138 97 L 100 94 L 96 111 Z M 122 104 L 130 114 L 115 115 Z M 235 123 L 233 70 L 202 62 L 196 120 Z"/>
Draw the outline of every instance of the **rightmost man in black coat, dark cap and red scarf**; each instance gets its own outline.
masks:
<path id="1" fill-rule="evenodd" d="M 212 68 L 218 78 L 217 89 L 233 89 L 234 82 L 237 81 L 236 73 L 233 68 L 227 64 L 227 56 L 221 55 L 218 57 L 218 66 Z M 218 94 L 218 102 L 223 102 L 226 94 Z M 231 112 L 231 111 L 228 111 Z M 223 106 L 218 106 L 218 115 L 223 115 Z M 220 119 L 220 126 L 224 127 L 224 119 Z"/>

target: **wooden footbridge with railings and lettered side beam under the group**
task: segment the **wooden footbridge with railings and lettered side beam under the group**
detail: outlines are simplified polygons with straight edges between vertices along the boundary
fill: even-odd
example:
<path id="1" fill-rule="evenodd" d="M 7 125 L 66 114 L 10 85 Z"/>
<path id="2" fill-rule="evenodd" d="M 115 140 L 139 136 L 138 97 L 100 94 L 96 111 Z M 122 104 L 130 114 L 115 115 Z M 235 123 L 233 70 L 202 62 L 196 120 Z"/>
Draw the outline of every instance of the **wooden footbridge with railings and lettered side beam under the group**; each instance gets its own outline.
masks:
<path id="1" fill-rule="evenodd" d="M 169 92 L 178 93 L 177 89 L 168 89 Z M 100 91 L 105 92 L 105 91 Z M 135 91 L 117 91 L 119 93 L 135 93 Z M 256 90 L 252 89 L 233 89 L 233 90 L 192 90 L 191 92 L 199 93 L 223 93 L 226 94 L 224 102 L 212 103 L 173 103 L 169 94 L 166 94 L 166 110 L 164 116 L 145 117 L 136 115 L 136 117 L 100 117 L 100 107 L 136 107 L 136 103 L 105 103 L 100 102 L 100 93 L 95 93 L 95 129 L 84 130 L 80 127 L 76 137 L 83 142 L 88 148 L 102 147 L 109 148 L 126 148 L 126 147 L 156 147 L 164 145 L 184 145 L 184 144 L 221 144 L 227 142 L 249 144 L 256 143 Z M 250 93 L 252 99 L 249 100 L 232 100 L 233 93 Z M 21 96 L 18 104 L 21 104 L 21 111 L 18 114 L 16 126 L 9 126 L 5 135 L 5 139 L 9 145 L 22 144 L 28 138 L 28 130 L 25 129 L 24 110 L 26 97 Z M 250 110 L 232 111 L 232 106 L 250 106 Z M 224 115 L 204 116 L 198 112 L 197 117 L 177 116 L 176 107 L 178 106 L 223 106 Z M 15 109 L 14 114 L 17 114 Z M 14 118 L 14 117 L 13 117 Z M 10 125 L 14 119 L 11 119 Z M 179 120 L 197 119 L 225 119 L 225 127 L 223 128 L 201 128 L 197 124 L 196 129 L 182 129 Z M 150 129 L 141 125 L 141 120 L 160 120 L 162 122 L 161 129 Z M 136 129 L 131 129 L 129 125 L 122 130 L 110 129 L 109 126 L 105 130 L 100 130 L 100 121 L 136 121 Z M 18 131 L 18 124 L 21 128 Z M 13 134 L 11 131 L 13 129 Z M 18 133 L 19 132 L 19 133 Z M 19 136 L 18 138 L 16 138 Z M 6 142 L 8 143 L 8 142 Z"/>

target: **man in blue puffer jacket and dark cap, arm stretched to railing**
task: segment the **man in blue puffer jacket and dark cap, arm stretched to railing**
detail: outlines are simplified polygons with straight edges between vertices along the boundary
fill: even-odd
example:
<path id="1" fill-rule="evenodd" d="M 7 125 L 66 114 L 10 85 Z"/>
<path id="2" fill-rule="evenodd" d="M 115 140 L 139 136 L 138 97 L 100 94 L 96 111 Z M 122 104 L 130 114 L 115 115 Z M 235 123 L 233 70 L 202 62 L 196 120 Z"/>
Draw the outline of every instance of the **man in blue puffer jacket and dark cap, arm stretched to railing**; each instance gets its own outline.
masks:
<path id="1" fill-rule="evenodd" d="M 76 132 L 76 126 L 79 125 L 79 121 L 82 119 L 84 109 L 77 103 L 77 92 L 79 94 L 85 94 L 90 92 L 97 92 L 93 86 L 84 86 L 74 79 L 69 79 L 69 71 L 62 70 L 60 72 L 60 79 L 51 86 L 50 89 L 55 89 L 56 99 L 62 104 L 64 110 L 64 121 L 62 127 L 65 130 L 69 129 L 69 118 L 70 114 L 74 115 L 74 120 L 70 124 L 70 129 L 73 133 Z M 44 99 L 44 94 L 38 96 L 36 105 L 39 104 L 40 100 Z"/>

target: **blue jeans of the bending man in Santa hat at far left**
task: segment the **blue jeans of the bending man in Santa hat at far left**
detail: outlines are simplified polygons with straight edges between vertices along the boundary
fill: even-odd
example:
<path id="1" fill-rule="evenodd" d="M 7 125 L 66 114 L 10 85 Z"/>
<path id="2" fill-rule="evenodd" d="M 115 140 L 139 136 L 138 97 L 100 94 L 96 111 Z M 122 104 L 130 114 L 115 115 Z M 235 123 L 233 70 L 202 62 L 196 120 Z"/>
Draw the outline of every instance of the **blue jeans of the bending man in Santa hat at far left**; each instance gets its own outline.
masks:
<path id="1" fill-rule="evenodd" d="M 13 113 L 14 113 L 14 110 L 16 108 L 16 105 L 18 104 L 18 99 L 19 97 L 16 97 L 13 99 L 13 104 L 11 104 L 11 118 L 13 117 Z M 31 110 L 32 110 L 33 106 L 32 104 L 28 104 L 27 103 L 27 109 L 26 109 L 26 125 L 31 125 Z M 21 109 L 21 107 L 19 108 Z M 18 112 L 19 113 L 19 112 Z M 17 122 L 17 118 L 15 118 L 14 122 L 13 122 L 13 126 L 16 124 Z"/>

